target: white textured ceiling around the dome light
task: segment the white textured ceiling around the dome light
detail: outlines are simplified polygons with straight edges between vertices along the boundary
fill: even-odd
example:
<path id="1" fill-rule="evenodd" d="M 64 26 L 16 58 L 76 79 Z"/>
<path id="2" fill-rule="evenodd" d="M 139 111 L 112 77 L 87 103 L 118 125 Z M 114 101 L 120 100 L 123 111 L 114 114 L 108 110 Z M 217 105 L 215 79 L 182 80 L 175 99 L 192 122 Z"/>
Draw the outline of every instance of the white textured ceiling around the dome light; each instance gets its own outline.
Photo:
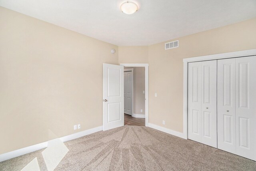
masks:
<path id="1" fill-rule="evenodd" d="M 256 17 L 256 0 L 0 0 L 0 6 L 118 46 L 151 45 Z"/>

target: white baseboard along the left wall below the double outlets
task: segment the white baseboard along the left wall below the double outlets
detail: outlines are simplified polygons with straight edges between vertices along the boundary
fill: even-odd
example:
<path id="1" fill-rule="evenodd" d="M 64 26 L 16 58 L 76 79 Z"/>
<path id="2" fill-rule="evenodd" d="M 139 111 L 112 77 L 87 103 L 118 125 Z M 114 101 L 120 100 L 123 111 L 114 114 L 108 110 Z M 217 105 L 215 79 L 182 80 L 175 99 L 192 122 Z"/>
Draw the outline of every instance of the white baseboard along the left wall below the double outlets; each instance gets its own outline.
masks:
<path id="1" fill-rule="evenodd" d="M 95 127 L 95 128 L 92 128 L 92 129 L 87 129 L 85 131 L 81 131 L 81 132 L 78 132 L 78 133 L 67 135 L 67 136 L 61 137 L 59 139 L 62 142 L 70 141 L 72 139 L 83 137 L 83 136 L 89 135 L 91 133 L 102 131 L 102 128 L 103 128 L 102 126 L 99 126 L 99 127 Z M 52 140 L 50 140 L 49 142 L 51 142 L 51 141 Z M 4 154 L 0 155 L 0 162 L 8 160 L 8 159 L 12 159 L 14 157 L 18 157 L 20 155 L 31 153 L 31 152 L 34 152 L 34 151 L 37 151 L 37 150 L 40 150 L 40 149 L 43 149 L 43 148 L 46 148 L 46 147 L 48 147 L 48 141 L 43 142 L 43 143 L 39 143 L 39 144 L 36 144 L 36 145 L 31 145 L 29 147 L 25 147 L 25 148 L 22 148 L 22 149 L 17 149 L 17 150 L 14 150 L 14 151 L 10 151 L 8 153 L 4 153 Z"/>

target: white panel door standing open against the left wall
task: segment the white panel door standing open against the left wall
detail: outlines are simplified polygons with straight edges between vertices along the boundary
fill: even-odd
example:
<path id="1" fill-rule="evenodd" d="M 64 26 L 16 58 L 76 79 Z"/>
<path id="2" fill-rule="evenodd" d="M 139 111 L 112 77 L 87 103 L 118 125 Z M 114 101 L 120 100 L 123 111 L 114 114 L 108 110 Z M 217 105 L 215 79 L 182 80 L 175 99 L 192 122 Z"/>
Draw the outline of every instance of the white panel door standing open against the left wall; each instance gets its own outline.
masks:
<path id="1" fill-rule="evenodd" d="M 103 130 L 124 125 L 124 66 L 103 64 Z"/>

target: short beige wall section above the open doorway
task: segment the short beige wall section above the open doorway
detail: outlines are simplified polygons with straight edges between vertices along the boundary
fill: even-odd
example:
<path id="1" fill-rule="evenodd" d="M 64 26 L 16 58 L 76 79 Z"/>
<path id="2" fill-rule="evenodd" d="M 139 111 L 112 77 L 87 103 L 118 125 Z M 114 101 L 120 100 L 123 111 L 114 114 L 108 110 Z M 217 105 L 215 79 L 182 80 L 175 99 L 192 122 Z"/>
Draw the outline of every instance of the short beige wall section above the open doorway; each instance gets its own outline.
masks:
<path id="1" fill-rule="evenodd" d="M 148 46 L 119 46 L 119 64 L 148 63 Z"/>

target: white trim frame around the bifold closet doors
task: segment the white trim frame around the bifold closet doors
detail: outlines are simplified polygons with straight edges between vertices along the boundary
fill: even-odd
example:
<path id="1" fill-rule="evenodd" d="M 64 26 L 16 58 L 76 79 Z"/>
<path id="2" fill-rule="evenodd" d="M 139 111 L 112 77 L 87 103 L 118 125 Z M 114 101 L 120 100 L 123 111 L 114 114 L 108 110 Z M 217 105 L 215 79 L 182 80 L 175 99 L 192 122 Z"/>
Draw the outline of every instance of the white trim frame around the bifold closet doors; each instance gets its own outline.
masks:
<path id="1" fill-rule="evenodd" d="M 219 60 L 256 55 L 256 49 L 183 59 L 183 138 L 188 139 L 188 62 Z"/>

